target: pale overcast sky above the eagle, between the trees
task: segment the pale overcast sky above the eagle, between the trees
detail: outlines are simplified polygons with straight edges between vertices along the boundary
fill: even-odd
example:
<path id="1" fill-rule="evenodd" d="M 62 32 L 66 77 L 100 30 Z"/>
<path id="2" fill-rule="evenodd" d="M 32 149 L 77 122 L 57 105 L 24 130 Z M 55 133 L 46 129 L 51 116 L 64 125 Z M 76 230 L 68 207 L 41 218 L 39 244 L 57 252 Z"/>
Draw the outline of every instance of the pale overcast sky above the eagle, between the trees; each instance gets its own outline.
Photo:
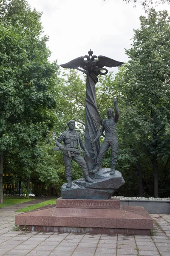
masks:
<path id="1" fill-rule="evenodd" d="M 140 1 L 140 0 L 139 0 Z M 32 8 L 43 12 L 42 26 L 49 35 L 51 61 L 58 64 L 88 54 L 105 55 L 117 61 L 128 61 L 133 29 L 140 26 L 139 17 L 146 15 L 142 6 L 123 0 L 28 0 Z M 168 10 L 160 5 L 156 10 Z M 109 69 L 117 71 L 117 68 Z"/>

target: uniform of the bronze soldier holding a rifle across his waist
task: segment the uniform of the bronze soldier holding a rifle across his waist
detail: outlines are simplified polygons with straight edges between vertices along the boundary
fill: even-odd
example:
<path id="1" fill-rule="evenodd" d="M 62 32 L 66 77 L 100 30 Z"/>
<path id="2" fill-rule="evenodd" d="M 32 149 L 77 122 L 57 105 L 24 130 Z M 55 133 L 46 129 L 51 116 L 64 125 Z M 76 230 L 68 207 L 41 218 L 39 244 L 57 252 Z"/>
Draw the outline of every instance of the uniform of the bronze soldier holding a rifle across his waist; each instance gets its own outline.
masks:
<path id="1" fill-rule="evenodd" d="M 79 140 L 79 141 L 78 141 Z M 67 148 L 79 148 L 83 144 L 83 140 L 77 131 L 74 133 L 67 131 L 62 132 L 62 134 L 57 138 L 59 143 L 64 142 Z M 62 151 L 63 160 L 65 164 L 65 176 L 67 181 L 71 181 L 71 161 L 74 159 L 81 167 L 84 177 L 89 177 L 88 167 L 85 160 L 79 153 L 74 153 L 71 151 Z"/>

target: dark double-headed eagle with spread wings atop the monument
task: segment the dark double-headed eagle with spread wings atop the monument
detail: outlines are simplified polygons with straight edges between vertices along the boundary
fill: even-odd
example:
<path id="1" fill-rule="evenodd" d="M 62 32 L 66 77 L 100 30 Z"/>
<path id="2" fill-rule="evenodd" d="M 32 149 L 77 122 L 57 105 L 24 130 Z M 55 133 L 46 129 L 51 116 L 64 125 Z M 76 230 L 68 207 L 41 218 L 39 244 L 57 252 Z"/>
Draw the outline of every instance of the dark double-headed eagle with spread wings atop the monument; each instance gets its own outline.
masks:
<path id="1" fill-rule="evenodd" d="M 88 55 L 81 56 L 78 58 L 75 58 L 72 61 L 69 61 L 68 63 L 60 65 L 63 68 L 75 68 L 79 71 L 82 71 L 83 73 L 94 73 L 96 76 L 98 75 L 105 75 L 108 73 L 108 70 L 105 67 L 118 67 L 124 64 L 124 62 L 115 61 L 111 58 L 105 57 L 105 56 L 96 56 L 93 55 L 93 51 L 90 50 L 88 52 Z M 78 67 L 81 67 L 85 71 L 79 69 Z M 102 72 L 101 70 L 105 70 L 105 72 Z"/>

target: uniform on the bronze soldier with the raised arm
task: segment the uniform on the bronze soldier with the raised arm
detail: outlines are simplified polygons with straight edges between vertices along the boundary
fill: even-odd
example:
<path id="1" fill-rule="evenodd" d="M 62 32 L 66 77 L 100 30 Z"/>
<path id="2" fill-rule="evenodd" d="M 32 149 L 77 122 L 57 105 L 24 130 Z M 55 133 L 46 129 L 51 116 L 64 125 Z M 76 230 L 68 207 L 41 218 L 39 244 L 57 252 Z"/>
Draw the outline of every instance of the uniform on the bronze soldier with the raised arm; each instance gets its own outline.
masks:
<path id="1" fill-rule="evenodd" d="M 108 148 L 111 146 L 111 169 L 114 169 L 117 163 L 117 154 L 119 148 L 118 135 L 116 132 L 117 122 L 114 121 L 114 118 L 104 119 L 102 126 L 105 129 L 105 139 L 100 147 L 96 166 L 100 167 Z"/>

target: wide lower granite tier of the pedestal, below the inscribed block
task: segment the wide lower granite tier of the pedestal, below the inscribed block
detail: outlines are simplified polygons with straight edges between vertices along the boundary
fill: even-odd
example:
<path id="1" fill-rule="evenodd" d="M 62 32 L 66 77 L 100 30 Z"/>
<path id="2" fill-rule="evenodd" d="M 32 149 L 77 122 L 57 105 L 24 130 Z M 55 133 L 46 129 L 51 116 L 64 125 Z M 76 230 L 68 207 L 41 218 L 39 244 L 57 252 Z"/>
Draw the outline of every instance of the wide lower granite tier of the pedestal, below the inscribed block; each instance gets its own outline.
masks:
<path id="1" fill-rule="evenodd" d="M 150 230 L 153 220 L 143 207 L 123 206 L 121 209 L 56 208 L 39 209 L 16 215 L 15 224 L 30 227 L 74 227 L 116 230 Z M 119 231 L 120 232 L 120 231 Z M 133 232 L 133 231 L 129 231 Z M 127 232 L 126 232 L 127 233 Z M 144 232 L 146 233 L 146 232 Z"/>

